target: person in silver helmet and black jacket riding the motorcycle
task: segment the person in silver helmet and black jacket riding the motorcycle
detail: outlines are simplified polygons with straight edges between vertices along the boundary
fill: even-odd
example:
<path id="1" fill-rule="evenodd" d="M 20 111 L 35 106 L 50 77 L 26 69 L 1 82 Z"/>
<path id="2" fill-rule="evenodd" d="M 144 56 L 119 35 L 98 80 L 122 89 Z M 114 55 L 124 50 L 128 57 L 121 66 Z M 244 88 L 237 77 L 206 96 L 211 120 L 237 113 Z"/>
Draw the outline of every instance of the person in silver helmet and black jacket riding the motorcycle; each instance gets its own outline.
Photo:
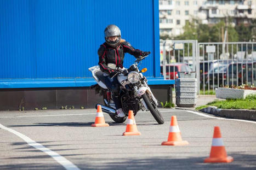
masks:
<path id="1" fill-rule="evenodd" d="M 113 77 L 113 75 L 118 72 L 116 68 L 123 68 L 124 54 L 126 52 L 136 58 L 147 56 L 150 52 L 134 49 L 130 43 L 121 39 L 120 28 L 116 25 L 107 26 L 104 30 L 104 34 L 105 43 L 101 44 L 98 50 L 99 66 L 101 71 L 104 72 L 106 86 L 112 92 L 116 113 L 120 118 L 123 118 L 125 114 L 122 110 L 121 101 L 118 99 L 120 84 L 118 83 L 117 76 Z"/>

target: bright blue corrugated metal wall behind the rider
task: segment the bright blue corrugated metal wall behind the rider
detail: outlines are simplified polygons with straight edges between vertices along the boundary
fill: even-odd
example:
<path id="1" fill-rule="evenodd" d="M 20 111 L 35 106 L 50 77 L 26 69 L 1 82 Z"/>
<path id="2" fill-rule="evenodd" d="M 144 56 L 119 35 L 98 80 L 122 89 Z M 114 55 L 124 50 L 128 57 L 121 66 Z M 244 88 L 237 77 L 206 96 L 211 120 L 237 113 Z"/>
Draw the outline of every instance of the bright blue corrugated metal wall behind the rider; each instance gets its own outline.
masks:
<path id="1" fill-rule="evenodd" d="M 98 65 L 109 24 L 120 27 L 136 49 L 152 52 L 141 67 L 148 68 L 147 77 L 160 77 L 158 0 L 0 0 L 0 87 L 59 86 L 32 85 L 50 78 L 91 80 L 88 67 Z M 133 61 L 126 55 L 124 66 Z M 25 86 L 7 85 L 22 80 Z"/>

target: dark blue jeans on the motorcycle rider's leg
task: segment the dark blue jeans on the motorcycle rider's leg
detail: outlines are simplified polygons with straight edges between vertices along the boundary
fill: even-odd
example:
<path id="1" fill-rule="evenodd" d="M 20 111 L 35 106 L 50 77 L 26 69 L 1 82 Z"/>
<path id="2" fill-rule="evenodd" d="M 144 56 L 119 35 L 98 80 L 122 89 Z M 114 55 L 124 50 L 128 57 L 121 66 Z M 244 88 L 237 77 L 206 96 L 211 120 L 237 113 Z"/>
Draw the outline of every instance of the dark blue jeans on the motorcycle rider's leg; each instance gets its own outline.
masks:
<path id="1" fill-rule="evenodd" d="M 106 86 L 112 92 L 112 99 L 115 102 L 116 110 L 122 107 L 121 101 L 118 98 L 120 91 L 120 84 L 117 80 L 117 76 L 114 78 L 110 78 L 109 76 L 105 77 Z"/>

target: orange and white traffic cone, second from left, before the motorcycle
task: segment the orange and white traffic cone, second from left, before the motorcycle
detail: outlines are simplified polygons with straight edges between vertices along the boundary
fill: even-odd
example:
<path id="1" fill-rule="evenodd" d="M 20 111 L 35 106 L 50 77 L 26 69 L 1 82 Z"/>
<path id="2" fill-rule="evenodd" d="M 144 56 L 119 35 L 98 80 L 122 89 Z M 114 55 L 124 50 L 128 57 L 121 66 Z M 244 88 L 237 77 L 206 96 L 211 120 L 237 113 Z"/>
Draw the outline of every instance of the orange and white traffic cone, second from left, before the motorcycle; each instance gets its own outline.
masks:
<path id="1" fill-rule="evenodd" d="M 123 132 L 123 136 L 141 135 L 138 132 L 136 122 L 133 115 L 133 110 L 129 110 L 128 121 L 126 125 L 126 132 Z"/>

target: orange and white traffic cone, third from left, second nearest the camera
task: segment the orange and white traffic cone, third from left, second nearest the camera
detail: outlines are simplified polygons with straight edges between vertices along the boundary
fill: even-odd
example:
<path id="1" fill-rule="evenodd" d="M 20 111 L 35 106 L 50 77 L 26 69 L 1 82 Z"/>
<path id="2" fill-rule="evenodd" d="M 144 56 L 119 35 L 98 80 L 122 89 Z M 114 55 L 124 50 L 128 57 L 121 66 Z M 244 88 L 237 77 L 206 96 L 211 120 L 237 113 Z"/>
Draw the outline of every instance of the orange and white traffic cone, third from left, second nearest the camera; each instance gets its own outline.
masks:
<path id="1" fill-rule="evenodd" d="M 169 136 L 167 142 L 162 142 L 162 145 L 187 145 L 189 142 L 181 139 L 180 129 L 177 123 L 176 116 L 172 116 L 170 121 Z"/>

